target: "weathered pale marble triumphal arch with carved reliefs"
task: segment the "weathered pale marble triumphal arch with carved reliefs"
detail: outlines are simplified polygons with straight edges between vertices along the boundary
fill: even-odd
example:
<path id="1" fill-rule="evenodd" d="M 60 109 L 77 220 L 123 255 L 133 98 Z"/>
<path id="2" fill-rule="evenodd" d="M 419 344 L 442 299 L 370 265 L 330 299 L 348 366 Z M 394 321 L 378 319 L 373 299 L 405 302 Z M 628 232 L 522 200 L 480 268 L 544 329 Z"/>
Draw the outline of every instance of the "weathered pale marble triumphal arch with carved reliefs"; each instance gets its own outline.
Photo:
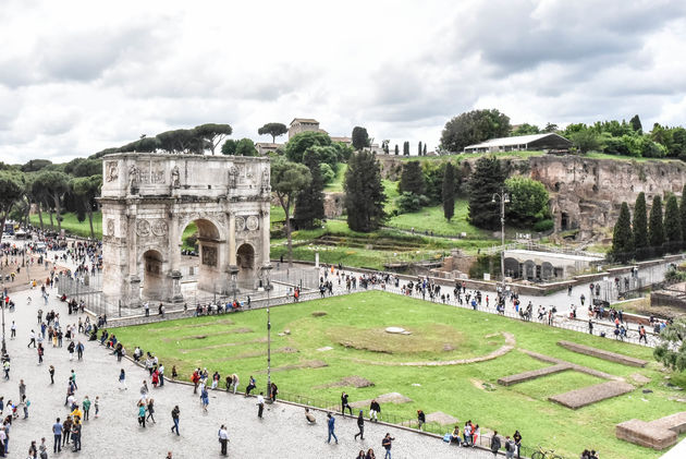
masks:
<path id="1" fill-rule="evenodd" d="M 181 302 L 182 233 L 197 227 L 197 288 L 269 285 L 269 159 L 121 153 L 102 158 L 108 305 Z"/>

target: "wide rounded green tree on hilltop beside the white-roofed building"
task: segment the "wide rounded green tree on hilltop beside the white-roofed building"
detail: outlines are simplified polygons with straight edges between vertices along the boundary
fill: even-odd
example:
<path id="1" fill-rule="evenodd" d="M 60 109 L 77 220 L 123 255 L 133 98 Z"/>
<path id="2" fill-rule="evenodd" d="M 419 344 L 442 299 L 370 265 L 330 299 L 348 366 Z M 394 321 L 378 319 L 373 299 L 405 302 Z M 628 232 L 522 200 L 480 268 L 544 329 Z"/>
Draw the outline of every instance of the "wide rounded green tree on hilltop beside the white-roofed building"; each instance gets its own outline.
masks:
<path id="1" fill-rule="evenodd" d="M 497 109 L 464 112 L 445 123 L 441 147 L 452 153 L 494 137 L 510 135 L 510 118 Z"/>

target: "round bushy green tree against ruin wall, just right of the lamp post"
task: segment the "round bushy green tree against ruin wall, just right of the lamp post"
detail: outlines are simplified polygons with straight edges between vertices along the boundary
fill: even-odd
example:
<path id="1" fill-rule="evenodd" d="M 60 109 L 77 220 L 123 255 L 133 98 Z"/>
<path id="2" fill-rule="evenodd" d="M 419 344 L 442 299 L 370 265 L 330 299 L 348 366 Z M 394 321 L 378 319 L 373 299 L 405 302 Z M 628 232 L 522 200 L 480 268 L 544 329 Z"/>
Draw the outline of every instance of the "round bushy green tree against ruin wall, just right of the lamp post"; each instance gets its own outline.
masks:
<path id="1" fill-rule="evenodd" d="M 528 177 L 515 176 L 505 180 L 510 193 L 507 219 L 520 225 L 534 225 L 549 216 L 550 195 L 546 186 Z"/>

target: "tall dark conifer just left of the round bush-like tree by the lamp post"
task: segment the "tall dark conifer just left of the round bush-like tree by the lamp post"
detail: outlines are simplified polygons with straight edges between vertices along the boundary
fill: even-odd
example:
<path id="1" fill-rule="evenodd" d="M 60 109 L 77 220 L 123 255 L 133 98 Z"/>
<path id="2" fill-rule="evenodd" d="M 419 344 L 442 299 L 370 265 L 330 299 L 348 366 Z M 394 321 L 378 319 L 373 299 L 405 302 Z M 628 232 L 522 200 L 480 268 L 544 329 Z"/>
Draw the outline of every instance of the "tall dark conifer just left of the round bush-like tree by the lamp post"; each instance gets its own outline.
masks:
<path id="1" fill-rule="evenodd" d="M 469 221 L 478 228 L 500 229 L 500 204 L 493 202 L 493 194 L 505 186 L 505 173 L 494 156 L 477 160 L 469 179 Z"/>

